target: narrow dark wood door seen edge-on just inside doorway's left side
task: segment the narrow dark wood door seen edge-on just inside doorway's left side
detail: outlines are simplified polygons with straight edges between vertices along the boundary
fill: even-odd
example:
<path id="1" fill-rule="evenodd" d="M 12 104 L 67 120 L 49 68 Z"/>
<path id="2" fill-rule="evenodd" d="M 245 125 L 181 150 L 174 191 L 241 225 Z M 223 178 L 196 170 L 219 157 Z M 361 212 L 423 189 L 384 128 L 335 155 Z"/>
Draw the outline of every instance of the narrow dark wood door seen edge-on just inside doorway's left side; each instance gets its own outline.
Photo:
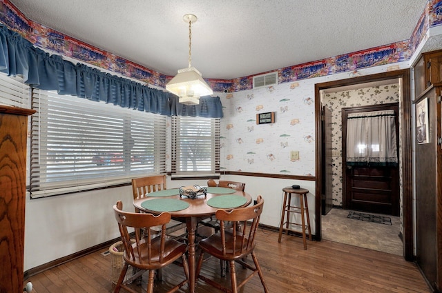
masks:
<path id="1" fill-rule="evenodd" d="M 322 214 L 333 208 L 333 156 L 332 156 L 332 111 L 323 107 L 323 190 Z"/>

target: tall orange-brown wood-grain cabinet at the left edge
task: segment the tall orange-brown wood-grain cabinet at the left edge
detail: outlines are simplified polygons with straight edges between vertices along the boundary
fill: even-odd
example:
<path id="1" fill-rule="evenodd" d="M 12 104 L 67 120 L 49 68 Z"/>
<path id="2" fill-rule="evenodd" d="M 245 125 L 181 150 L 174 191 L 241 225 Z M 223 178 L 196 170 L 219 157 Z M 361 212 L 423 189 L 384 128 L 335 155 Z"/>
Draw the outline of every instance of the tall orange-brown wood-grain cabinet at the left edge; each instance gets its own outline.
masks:
<path id="1" fill-rule="evenodd" d="M 23 292 L 28 115 L 0 105 L 0 292 Z"/>

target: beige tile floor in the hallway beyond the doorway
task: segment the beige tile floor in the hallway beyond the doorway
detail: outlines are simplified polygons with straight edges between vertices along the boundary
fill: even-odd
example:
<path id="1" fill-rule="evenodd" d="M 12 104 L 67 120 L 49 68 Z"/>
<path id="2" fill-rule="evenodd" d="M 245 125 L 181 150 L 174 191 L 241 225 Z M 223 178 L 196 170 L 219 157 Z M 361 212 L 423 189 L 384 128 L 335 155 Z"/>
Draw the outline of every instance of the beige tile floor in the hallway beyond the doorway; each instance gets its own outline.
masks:
<path id="1" fill-rule="evenodd" d="M 398 216 L 383 215 L 392 219 L 392 225 L 384 225 L 348 219 L 348 213 L 349 210 L 334 208 L 322 216 L 323 239 L 403 255 L 403 243 L 398 236 L 401 230 Z"/>

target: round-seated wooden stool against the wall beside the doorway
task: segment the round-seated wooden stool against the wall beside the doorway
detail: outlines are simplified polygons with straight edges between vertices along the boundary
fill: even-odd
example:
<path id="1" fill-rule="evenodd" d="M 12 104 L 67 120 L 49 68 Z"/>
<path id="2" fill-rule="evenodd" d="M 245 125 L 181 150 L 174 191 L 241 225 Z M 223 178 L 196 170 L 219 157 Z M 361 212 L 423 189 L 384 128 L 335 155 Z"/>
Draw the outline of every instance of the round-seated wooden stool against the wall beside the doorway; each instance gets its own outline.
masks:
<path id="1" fill-rule="evenodd" d="M 282 214 L 281 214 L 281 224 L 279 228 L 279 238 L 278 242 L 281 242 L 281 236 L 282 231 L 285 230 L 287 232 L 287 235 L 289 234 L 289 231 L 296 232 L 295 230 L 291 230 L 289 228 L 289 225 L 298 225 L 302 227 L 302 239 L 304 241 L 304 249 L 307 249 L 307 241 L 305 236 L 305 228 L 309 230 L 309 239 L 311 238 L 311 230 L 310 230 L 310 217 L 309 217 L 309 205 L 307 203 L 307 193 L 309 193 L 309 190 L 306 190 L 305 188 L 298 188 L 294 189 L 291 187 L 288 188 L 282 188 L 282 191 L 284 192 L 284 201 L 282 202 Z M 299 196 L 299 202 L 300 206 L 291 205 L 291 194 L 295 194 Z M 286 214 L 287 212 L 287 214 Z M 296 214 L 301 215 L 301 223 L 293 223 L 290 222 L 290 213 L 294 212 Z M 284 221 L 284 217 L 285 221 Z M 307 216 L 307 225 L 305 225 L 305 217 Z M 284 228 L 285 224 L 285 228 Z"/>

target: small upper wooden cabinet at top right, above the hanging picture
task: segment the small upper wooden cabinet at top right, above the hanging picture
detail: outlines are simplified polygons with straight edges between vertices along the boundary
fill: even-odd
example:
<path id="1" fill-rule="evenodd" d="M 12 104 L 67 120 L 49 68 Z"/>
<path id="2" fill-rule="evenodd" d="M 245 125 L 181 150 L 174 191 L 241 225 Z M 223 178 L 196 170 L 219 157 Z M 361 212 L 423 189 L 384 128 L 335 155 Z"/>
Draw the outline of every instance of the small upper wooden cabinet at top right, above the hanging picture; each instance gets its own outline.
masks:
<path id="1" fill-rule="evenodd" d="M 414 93 L 418 97 L 424 90 L 442 82 L 442 50 L 423 53 L 414 65 Z"/>

